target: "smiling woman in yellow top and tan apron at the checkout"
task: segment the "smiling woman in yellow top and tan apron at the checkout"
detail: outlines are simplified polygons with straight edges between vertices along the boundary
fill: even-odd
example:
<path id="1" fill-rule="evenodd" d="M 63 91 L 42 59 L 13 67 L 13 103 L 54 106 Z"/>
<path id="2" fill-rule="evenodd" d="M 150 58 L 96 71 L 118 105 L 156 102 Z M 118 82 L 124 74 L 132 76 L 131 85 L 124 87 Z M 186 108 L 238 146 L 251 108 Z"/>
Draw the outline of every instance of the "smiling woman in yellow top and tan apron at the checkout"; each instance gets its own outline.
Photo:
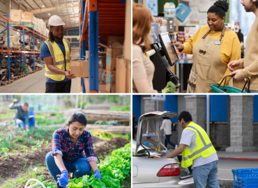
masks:
<path id="1" fill-rule="evenodd" d="M 218 0 L 208 9 L 207 25 L 202 26 L 185 44 L 173 41 L 179 52 L 193 54 L 188 79 L 188 93 L 209 93 L 211 84 L 218 84 L 229 75 L 227 64 L 241 58 L 238 36 L 224 25 L 227 1 Z M 232 86 L 231 77 L 226 84 Z"/>

